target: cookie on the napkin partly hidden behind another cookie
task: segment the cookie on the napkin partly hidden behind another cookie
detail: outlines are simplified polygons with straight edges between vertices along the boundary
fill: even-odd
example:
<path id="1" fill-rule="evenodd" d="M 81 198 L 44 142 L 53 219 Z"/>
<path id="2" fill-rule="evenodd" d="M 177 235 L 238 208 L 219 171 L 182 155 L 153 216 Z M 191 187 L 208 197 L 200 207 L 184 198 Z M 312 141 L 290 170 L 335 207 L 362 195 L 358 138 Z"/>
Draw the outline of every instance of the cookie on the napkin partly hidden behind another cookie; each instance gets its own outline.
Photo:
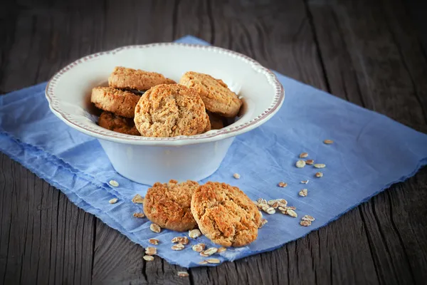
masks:
<path id="1" fill-rule="evenodd" d="M 178 183 L 154 183 L 144 197 L 144 214 L 165 229 L 184 232 L 197 227 L 191 214 L 191 196 L 199 183 L 191 180 Z"/>

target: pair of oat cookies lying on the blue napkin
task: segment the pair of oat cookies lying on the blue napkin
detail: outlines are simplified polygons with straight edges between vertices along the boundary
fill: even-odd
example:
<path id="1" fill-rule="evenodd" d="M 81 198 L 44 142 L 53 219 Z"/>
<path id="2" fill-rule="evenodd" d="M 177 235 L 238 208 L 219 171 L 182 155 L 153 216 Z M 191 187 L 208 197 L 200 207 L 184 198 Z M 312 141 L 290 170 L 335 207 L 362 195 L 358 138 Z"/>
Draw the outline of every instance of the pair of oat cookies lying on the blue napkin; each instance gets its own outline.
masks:
<path id="1" fill-rule="evenodd" d="M 242 247 L 258 237 L 261 214 L 238 187 L 188 180 L 155 183 L 144 197 L 144 214 L 165 229 L 184 232 L 199 227 L 223 247 Z"/>

